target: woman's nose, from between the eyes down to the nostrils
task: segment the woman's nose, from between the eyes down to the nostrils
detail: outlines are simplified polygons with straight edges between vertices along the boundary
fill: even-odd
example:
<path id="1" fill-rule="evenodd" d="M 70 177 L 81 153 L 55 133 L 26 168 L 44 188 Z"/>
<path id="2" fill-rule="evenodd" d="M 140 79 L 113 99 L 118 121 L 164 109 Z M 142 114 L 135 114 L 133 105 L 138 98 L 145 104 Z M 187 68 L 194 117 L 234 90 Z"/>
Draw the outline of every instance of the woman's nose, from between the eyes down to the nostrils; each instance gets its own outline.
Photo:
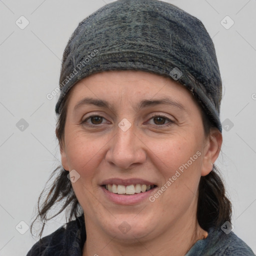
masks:
<path id="1" fill-rule="evenodd" d="M 132 165 L 138 165 L 145 161 L 146 147 L 141 136 L 136 134 L 138 132 L 133 124 L 127 130 L 120 127 L 116 127 L 116 134 L 109 141 L 110 145 L 105 159 L 120 169 L 129 169 Z"/>

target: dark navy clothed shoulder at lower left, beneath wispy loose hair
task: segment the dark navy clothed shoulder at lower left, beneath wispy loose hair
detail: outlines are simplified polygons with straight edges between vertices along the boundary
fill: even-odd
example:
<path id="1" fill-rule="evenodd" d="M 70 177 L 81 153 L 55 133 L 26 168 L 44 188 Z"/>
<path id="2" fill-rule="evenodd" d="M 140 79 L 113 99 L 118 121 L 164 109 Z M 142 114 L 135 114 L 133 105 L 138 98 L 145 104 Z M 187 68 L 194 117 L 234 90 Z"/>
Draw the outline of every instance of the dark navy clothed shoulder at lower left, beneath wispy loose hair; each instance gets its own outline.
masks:
<path id="1" fill-rule="evenodd" d="M 69 221 L 51 234 L 42 237 L 28 251 L 26 256 L 54 256 L 59 253 L 79 255 L 85 241 L 83 216 Z"/>

